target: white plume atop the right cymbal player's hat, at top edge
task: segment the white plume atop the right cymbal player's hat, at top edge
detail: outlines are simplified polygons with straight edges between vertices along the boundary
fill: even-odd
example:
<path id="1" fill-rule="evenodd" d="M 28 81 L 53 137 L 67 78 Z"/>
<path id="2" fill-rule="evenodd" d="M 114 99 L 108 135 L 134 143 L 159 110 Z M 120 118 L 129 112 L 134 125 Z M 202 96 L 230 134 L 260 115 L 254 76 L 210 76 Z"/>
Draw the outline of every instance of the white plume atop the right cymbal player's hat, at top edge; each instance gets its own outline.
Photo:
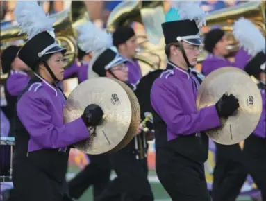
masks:
<path id="1" fill-rule="evenodd" d="M 180 20 L 194 20 L 201 28 L 206 25 L 207 13 L 202 10 L 200 3 L 201 1 L 174 1 L 172 6 L 178 11 Z"/>

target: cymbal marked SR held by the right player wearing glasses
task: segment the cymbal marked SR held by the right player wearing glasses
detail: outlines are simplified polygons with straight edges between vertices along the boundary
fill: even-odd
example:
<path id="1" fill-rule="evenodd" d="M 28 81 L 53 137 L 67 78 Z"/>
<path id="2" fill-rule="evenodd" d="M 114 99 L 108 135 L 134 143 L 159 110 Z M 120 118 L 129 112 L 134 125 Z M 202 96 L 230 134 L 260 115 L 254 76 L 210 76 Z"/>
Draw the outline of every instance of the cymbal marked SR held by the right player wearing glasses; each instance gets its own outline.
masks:
<path id="1" fill-rule="evenodd" d="M 240 143 L 255 130 L 262 112 L 260 91 L 250 76 L 235 67 L 223 67 L 210 73 L 201 83 L 197 94 L 197 109 L 215 105 L 224 93 L 233 94 L 240 107 L 228 119 L 221 118 L 222 126 L 206 131 L 217 143 Z"/>

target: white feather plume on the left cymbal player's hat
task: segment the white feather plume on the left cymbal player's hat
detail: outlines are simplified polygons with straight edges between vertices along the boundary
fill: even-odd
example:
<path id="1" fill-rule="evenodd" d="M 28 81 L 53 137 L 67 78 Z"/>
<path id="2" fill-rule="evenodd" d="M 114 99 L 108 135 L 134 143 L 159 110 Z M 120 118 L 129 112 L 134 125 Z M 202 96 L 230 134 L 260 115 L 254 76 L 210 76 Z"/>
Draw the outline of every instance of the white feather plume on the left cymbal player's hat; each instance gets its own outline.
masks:
<path id="1" fill-rule="evenodd" d="M 48 31 L 53 35 L 53 23 L 56 19 L 47 16 L 37 1 L 17 1 L 14 15 L 22 29 L 19 35 L 26 33 L 28 40 L 42 31 Z"/>

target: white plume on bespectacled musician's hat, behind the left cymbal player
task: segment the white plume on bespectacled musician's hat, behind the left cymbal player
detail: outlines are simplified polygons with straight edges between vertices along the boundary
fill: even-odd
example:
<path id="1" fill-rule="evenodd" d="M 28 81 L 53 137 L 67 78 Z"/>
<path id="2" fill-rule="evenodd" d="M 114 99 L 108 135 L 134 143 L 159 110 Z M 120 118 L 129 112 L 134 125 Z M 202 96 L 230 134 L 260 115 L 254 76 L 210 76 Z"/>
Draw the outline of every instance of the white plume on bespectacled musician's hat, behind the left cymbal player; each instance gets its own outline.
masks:
<path id="1" fill-rule="evenodd" d="M 95 26 L 91 21 L 76 28 L 78 33 L 78 46 L 86 53 L 101 51 L 113 45 L 110 33 Z"/>

